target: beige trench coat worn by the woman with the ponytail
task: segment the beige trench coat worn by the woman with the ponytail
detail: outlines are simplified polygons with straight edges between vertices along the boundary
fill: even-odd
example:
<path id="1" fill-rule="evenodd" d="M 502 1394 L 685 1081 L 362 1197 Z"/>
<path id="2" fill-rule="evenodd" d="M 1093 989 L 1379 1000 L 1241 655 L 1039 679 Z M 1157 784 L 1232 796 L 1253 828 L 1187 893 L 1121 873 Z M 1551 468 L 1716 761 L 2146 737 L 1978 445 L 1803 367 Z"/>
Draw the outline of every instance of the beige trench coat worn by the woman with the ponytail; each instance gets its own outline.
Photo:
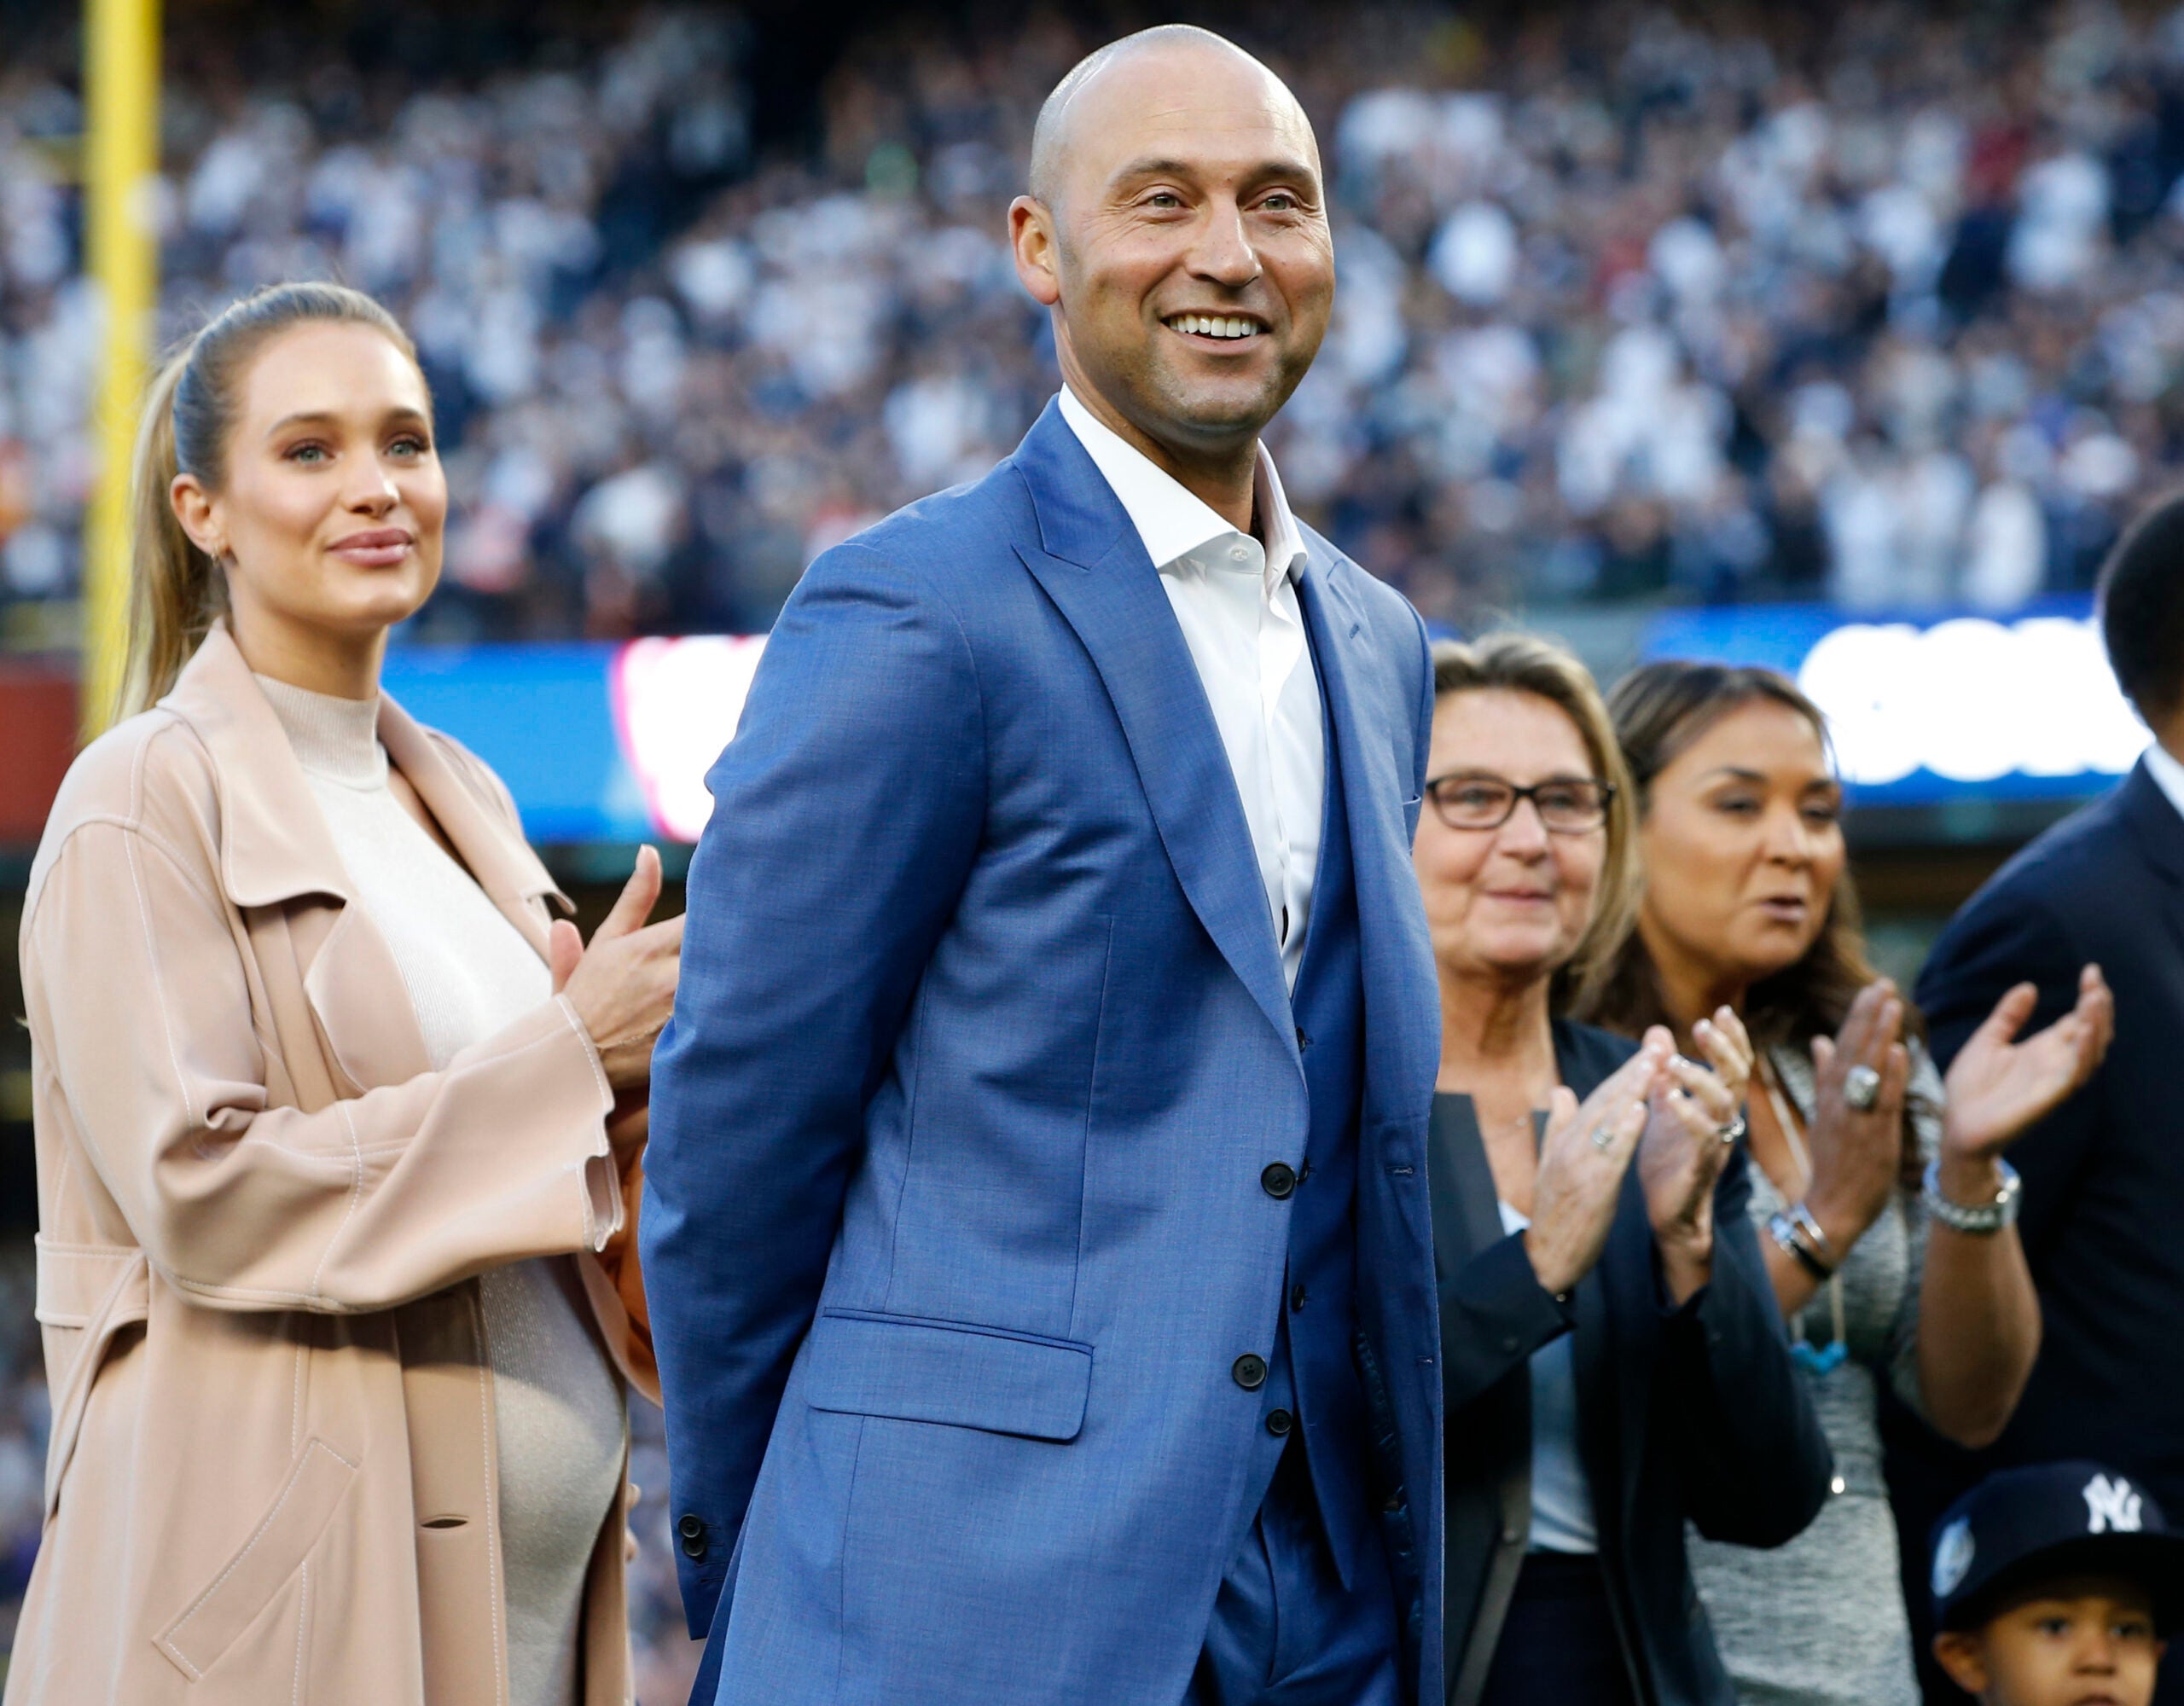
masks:
<path id="1" fill-rule="evenodd" d="M 546 950 L 553 882 L 491 771 L 380 738 Z M 507 1702 L 476 1273 L 574 1254 L 657 1391 L 636 1177 L 574 1009 L 430 1068 L 273 708 L 225 629 L 96 741 L 22 922 L 37 1121 L 46 1531 L 7 1706 Z M 622 1496 L 583 1704 L 631 1693 Z"/>

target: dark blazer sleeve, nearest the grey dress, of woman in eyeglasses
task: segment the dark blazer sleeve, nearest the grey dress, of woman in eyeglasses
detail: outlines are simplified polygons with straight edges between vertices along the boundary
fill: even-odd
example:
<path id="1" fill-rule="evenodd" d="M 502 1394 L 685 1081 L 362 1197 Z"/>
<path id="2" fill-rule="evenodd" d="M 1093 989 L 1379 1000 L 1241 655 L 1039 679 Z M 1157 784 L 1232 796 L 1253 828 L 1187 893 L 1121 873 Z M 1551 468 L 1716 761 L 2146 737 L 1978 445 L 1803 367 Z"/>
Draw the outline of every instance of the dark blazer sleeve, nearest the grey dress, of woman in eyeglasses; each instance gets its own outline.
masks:
<path id="1" fill-rule="evenodd" d="M 1666 1322 L 1653 1391 L 1699 1533 L 1780 1547 L 1819 1516 L 1835 1455 L 1789 1356 L 1749 1206 L 1738 1149 L 1714 1186 L 1712 1278 Z"/>

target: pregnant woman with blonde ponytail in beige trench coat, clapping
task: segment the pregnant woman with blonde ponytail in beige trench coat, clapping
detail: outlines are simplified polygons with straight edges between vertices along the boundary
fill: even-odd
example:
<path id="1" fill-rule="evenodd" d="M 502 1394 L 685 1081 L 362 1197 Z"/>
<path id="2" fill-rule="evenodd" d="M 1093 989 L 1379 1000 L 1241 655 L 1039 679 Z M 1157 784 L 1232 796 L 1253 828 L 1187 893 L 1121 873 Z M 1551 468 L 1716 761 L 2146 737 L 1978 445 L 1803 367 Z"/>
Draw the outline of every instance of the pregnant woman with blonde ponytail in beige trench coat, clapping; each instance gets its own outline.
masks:
<path id="1" fill-rule="evenodd" d="M 585 948 L 380 697 L 448 489 L 376 301 L 227 308 L 140 446 L 151 708 L 24 900 L 55 1420 L 7 1697 L 620 1706 L 657 856 Z"/>

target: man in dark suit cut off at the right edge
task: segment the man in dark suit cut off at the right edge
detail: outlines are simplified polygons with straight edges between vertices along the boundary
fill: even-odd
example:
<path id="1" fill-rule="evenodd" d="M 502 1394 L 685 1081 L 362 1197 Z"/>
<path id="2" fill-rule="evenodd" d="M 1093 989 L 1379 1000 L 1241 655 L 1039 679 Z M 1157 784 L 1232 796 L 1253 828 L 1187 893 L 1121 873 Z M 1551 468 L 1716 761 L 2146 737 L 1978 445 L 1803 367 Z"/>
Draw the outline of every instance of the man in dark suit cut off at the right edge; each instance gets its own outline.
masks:
<path id="1" fill-rule="evenodd" d="M 2153 745 L 2108 797 L 2005 865 L 1935 944 L 1918 983 L 1935 1062 L 2016 983 L 2040 987 L 2031 1029 L 2077 1000 L 2097 963 L 2116 1040 L 2086 1088 L 2009 1149 L 2044 1339 L 2016 1418 L 1977 1457 L 1920 1459 L 1898 1503 L 1924 1551 L 1950 1483 L 2060 1457 L 2116 1464 L 2169 1509 L 2184 1503 L 2184 498 L 2147 513 L 2101 572 L 2101 631 Z M 2038 690 L 2038 688 L 2035 688 Z M 1913 1614 L 1924 1595 L 1913 1592 Z M 2184 1697 L 2173 1660 L 2162 1699 Z"/>

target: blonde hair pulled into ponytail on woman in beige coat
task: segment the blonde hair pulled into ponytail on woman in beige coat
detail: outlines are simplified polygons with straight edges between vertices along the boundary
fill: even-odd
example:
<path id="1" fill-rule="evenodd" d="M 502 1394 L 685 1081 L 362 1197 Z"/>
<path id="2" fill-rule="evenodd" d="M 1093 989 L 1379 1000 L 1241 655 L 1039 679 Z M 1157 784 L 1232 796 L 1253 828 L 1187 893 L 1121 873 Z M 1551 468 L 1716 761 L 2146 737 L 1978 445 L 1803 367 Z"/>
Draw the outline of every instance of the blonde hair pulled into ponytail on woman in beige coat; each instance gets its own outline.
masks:
<path id="1" fill-rule="evenodd" d="M 369 325 L 413 363 L 417 347 L 378 301 L 345 284 L 271 284 L 221 310 L 159 369 L 144 398 L 129 470 L 129 666 L 120 714 L 157 703 L 212 625 L 227 614 L 227 574 L 175 518 L 177 474 L 207 491 L 227 481 L 227 439 L 251 358 L 304 321 Z"/>

